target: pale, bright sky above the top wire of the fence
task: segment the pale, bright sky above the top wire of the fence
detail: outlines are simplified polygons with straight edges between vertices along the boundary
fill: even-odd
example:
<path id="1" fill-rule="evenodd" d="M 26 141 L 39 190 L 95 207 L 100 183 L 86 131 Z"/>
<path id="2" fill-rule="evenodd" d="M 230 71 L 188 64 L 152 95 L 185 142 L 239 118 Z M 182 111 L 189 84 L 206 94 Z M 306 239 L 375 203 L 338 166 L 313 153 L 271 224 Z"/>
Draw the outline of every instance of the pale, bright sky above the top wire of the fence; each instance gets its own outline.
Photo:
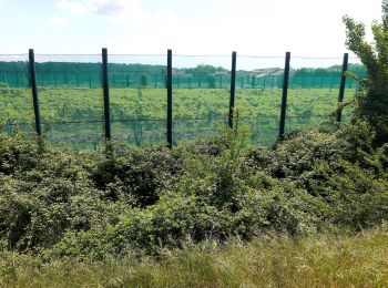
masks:
<path id="1" fill-rule="evenodd" d="M 0 54 L 341 56 L 341 17 L 367 27 L 380 0 L 0 0 Z"/>

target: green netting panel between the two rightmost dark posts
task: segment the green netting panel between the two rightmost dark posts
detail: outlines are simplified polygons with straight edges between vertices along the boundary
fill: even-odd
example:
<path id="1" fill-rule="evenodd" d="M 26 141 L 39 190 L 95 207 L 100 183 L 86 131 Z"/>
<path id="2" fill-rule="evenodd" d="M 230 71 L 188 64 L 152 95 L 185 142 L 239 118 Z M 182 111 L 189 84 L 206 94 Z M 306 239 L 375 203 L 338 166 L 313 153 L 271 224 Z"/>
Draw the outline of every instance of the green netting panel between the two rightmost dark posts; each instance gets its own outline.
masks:
<path id="1" fill-rule="evenodd" d="M 286 133 L 335 121 L 341 62 L 341 58 L 290 59 Z"/>

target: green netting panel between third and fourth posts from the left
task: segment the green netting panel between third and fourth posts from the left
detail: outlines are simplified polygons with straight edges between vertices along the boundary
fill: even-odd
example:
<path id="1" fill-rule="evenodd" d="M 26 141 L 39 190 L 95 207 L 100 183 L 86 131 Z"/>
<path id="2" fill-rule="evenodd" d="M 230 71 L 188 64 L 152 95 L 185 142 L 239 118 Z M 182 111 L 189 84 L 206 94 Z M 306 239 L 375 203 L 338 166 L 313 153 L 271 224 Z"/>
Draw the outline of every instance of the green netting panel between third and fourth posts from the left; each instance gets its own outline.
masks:
<path id="1" fill-rule="evenodd" d="M 174 145 L 207 141 L 227 124 L 231 56 L 173 56 Z"/>

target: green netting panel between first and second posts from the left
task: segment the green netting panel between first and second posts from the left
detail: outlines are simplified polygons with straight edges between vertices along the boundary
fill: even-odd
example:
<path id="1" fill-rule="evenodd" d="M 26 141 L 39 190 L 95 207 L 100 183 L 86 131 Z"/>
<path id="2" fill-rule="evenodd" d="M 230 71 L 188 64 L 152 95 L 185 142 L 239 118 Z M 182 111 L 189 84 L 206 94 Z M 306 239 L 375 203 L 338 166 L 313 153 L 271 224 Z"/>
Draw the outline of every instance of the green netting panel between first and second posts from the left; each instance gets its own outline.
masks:
<path id="1" fill-rule="evenodd" d="M 37 54 L 35 71 L 43 138 L 51 145 L 101 146 L 101 55 Z"/>

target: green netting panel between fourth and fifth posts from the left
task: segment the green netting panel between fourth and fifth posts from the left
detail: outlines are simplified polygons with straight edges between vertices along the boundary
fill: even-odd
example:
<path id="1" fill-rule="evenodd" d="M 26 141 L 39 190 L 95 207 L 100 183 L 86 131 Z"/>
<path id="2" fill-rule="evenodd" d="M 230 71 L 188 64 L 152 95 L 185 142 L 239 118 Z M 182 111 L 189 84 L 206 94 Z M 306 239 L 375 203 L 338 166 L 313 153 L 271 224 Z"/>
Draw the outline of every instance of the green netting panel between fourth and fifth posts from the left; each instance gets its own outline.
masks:
<path id="1" fill-rule="evenodd" d="M 251 142 L 268 145 L 279 128 L 284 58 L 237 56 L 236 117 Z"/>

